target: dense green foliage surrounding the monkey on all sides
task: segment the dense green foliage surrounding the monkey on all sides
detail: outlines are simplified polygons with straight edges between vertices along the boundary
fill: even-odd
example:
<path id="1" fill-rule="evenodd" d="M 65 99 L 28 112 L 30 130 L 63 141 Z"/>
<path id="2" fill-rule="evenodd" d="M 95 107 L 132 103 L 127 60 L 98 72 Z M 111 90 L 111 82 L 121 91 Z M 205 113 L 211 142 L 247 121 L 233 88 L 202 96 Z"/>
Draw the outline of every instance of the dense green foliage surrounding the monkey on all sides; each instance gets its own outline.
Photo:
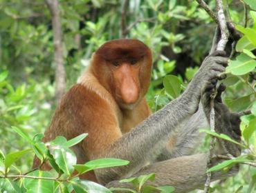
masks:
<path id="1" fill-rule="evenodd" d="M 89 64 L 91 54 L 102 43 L 124 36 L 140 39 L 149 45 L 154 54 L 152 84 L 147 100 L 152 110 L 156 111 L 179 96 L 188 85 L 210 50 L 216 24 L 193 0 L 130 0 L 128 6 L 124 2 L 59 1 L 66 90 L 77 81 Z M 214 10 L 214 0 L 205 2 Z M 226 161 L 214 170 L 228 170 L 234 163 L 252 164 L 241 164 L 235 177 L 214 183 L 212 192 L 253 192 L 256 190 L 256 167 L 252 166 L 256 165 L 256 3 L 254 0 L 224 2 L 228 5 L 226 15 L 244 37 L 238 41 L 235 49 L 239 53 L 227 68 L 228 78 L 223 82 L 228 88 L 223 100 L 232 111 L 251 110 L 252 113 L 242 117 L 242 156 Z M 125 22 L 122 17 L 125 17 Z M 15 181 L 2 177 L 30 171 L 35 153 L 42 160 L 51 158 L 54 162 L 55 159 L 51 157 L 53 152 L 50 153 L 40 141 L 42 134 L 38 134 L 47 128 L 56 107 L 51 18 L 43 0 L 0 0 L 0 192 L 7 187 L 9 192 L 33 192 L 39 183 L 42 185 L 39 191 L 53 192 L 55 188 L 59 188 L 57 191 L 60 192 L 72 190 L 72 183 L 31 179 Z M 84 137 L 80 136 L 70 143 L 59 138 L 53 141 L 52 146 L 59 145 L 73 154 L 69 147 Z M 226 136 L 219 137 L 227 139 Z M 66 145 L 63 145 L 64 141 Z M 201 149 L 208 148 L 204 146 Z M 65 156 L 63 161 L 66 161 Z M 104 161 L 103 166 L 127 164 L 115 161 Z M 55 163 L 57 172 L 40 173 L 37 170 L 28 175 L 56 179 L 58 174 L 63 174 L 65 179 L 74 170 L 86 172 L 99 165 L 91 163 L 73 167 L 75 156 L 68 170 L 64 170 L 63 164 Z M 154 180 L 154 174 L 130 181 L 140 191 L 141 185 L 148 179 Z M 80 188 L 80 192 L 85 191 L 84 188 L 89 190 L 97 186 L 77 179 L 73 181 L 73 188 L 77 191 Z M 104 187 L 98 188 L 102 188 L 103 192 L 109 191 Z M 171 187 L 155 188 L 162 188 L 163 192 L 172 191 Z"/>

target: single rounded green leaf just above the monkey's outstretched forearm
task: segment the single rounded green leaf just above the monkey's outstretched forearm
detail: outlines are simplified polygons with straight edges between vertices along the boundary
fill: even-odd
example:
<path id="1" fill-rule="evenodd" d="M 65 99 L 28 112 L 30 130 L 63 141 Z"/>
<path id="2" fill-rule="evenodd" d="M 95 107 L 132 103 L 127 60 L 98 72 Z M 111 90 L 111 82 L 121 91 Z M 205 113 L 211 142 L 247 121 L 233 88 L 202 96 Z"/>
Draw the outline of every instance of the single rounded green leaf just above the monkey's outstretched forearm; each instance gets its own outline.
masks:
<path id="1" fill-rule="evenodd" d="M 163 85 L 167 94 L 176 99 L 181 94 L 181 81 L 174 75 L 167 75 L 163 78 Z"/>

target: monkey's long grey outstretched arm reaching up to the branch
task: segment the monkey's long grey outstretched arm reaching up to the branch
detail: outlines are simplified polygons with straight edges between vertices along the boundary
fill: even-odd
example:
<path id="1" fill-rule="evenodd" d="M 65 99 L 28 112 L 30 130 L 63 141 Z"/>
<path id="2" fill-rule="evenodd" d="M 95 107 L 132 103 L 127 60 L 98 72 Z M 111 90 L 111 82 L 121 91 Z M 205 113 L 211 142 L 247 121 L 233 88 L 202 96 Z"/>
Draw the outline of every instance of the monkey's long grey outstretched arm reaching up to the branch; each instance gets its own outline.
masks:
<path id="1" fill-rule="evenodd" d="M 156 159 L 158 152 L 165 148 L 170 137 L 178 132 L 176 128 L 179 123 L 196 112 L 201 87 L 225 70 L 224 66 L 228 59 L 220 57 L 219 54 L 221 52 L 215 52 L 203 61 L 199 72 L 188 85 L 188 89 L 178 99 L 149 116 L 131 132 L 120 136 L 119 139 L 113 139 L 113 143 L 106 147 L 103 153 L 95 154 L 94 152 L 94 158 L 116 157 L 130 161 L 125 167 L 95 170 L 100 183 L 105 184 L 114 179 L 131 176 L 148 162 Z"/>

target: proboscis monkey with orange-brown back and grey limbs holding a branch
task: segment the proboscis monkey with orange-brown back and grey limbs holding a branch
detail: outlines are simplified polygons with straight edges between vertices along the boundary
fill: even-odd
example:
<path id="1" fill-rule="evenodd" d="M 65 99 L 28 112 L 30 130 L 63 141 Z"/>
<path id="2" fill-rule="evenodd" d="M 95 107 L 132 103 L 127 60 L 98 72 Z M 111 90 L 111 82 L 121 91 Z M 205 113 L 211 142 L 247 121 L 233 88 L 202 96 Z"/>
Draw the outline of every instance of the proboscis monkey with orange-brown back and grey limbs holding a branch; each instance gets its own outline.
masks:
<path id="1" fill-rule="evenodd" d="M 104 43 L 77 84 L 64 95 L 44 141 L 58 135 L 71 139 L 88 133 L 74 148 L 78 163 L 102 157 L 129 160 L 127 166 L 81 176 L 107 187 L 122 186 L 118 179 L 155 172 L 153 185 L 173 185 L 178 192 L 193 190 L 205 182 L 207 154 L 188 155 L 200 141 L 198 128 L 208 125 L 209 88 L 227 63 L 223 52 L 210 54 L 185 92 L 151 114 L 145 100 L 152 70 L 151 50 L 136 39 Z M 223 105 L 219 97 L 217 107 Z M 200 99 L 203 105 L 199 105 Z M 228 118 L 221 118 L 219 123 L 233 119 L 223 106 L 217 114 L 224 112 Z M 230 135 L 237 129 L 239 117 L 236 120 L 226 128 Z"/>

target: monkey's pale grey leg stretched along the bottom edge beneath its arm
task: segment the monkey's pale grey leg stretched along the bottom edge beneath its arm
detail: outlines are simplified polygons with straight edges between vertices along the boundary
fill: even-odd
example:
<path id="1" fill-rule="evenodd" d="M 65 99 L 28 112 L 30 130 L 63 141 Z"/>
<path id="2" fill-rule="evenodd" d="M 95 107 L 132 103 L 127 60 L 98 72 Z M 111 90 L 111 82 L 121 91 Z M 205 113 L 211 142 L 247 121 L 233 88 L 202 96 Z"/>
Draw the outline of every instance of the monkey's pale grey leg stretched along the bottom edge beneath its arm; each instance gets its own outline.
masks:
<path id="1" fill-rule="evenodd" d="M 154 172 L 156 179 L 153 182 L 147 183 L 147 185 L 153 185 L 154 187 L 172 185 L 175 187 L 175 192 L 189 192 L 204 186 L 207 160 L 208 154 L 182 156 L 147 165 L 133 176 Z M 232 167 L 232 170 L 228 173 L 214 172 L 212 174 L 212 180 L 233 176 L 236 172 L 237 167 Z M 107 187 L 128 187 L 132 189 L 130 183 L 120 183 L 119 181 L 111 181 L 107 184 Z"/>

